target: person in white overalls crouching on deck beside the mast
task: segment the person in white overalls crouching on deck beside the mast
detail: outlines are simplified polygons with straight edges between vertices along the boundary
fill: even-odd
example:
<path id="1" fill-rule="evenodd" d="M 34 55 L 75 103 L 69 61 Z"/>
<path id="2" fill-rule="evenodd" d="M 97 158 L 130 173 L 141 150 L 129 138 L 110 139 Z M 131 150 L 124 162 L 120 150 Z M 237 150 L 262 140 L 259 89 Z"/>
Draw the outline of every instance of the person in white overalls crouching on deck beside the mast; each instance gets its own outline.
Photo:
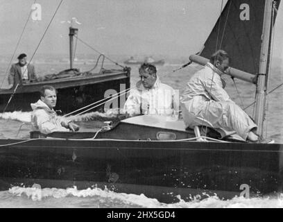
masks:
<path id="1" fill-rule="evenodd" d="M 236 131 L 244 140 L 256 142 L 259 138 L 253 131 L 257 125 L 223 89 L 221 75 L 228 67 L 228 53 L 220 50 L 191 77 L 180 99 L 185 124 L 189 128 L 208 126 Z"/>

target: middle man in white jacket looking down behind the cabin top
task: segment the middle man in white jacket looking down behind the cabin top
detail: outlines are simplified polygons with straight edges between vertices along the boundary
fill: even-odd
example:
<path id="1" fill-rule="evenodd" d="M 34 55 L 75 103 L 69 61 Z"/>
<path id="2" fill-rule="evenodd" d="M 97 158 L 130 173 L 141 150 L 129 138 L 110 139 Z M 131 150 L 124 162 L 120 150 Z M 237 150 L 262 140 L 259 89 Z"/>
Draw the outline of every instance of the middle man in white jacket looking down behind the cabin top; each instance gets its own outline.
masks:
<path id="1" fill-rule="evenodd" d="M 178 114 L 178 92 L 169 85 L 160 82 L 154 65 L 144 63 L 139 68 L 139 80 L 132 89 L 124 112 L 129 117 L 139 114 L 157 114 L 173 116 Z"/>

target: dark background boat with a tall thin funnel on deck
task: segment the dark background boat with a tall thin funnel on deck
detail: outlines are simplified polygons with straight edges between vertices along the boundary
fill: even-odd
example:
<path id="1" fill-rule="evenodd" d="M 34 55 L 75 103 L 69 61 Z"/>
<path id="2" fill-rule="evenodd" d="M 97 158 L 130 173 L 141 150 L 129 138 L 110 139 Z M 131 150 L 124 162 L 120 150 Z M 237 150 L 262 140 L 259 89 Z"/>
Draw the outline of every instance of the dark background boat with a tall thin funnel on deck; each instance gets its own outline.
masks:
<path id="1" fill-rule="evenodd" d="M 0 112 L 31 111 L 31 103 L 40 98 L 39 89 L 42 85 L 52 85 L 58 91 L 57 107 L 63 114 L 83 108 L 105 98 L 108 89 L 121 92 L 130 87 L 130 68 L 119 65 L 117 69 L 105 69 L 104 55 L 99 55 L 96 65 L 90 71 L 80 72 L 74 68 L 74 37 L 78 28 L 69 27 L 70 67 L 58 74 L 49 74 L 35 81 L 20 83 L 15 89 L 0 89 Z M 99 59 L 101 67 L 98 67 Z M 123 87 L 121 87 L 123 86 Z M 101 107 L 96 110 L 102 109 Z"/>

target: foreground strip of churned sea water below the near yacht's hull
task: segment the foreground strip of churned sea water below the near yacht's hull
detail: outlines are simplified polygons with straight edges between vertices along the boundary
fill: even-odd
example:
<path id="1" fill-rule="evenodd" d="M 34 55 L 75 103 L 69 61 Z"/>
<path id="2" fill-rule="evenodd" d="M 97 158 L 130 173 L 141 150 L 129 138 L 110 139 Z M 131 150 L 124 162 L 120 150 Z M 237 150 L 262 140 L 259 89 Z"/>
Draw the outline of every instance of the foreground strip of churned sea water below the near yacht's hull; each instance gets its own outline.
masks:
<path id="1" fill-rule="evenodd" d="M 99 188 L 78 190 L 76 187 L 67 189 L 12 187 L 8 191 L 0 191 L 0 207 L 282 208 L 283 194 L 264 198 L 234 197 L 231 200 L 221 200 L 217 196 L 203 200 L 192 198 L 191 201 L 180 198 L 178 203 L 166 204 L 154 198 L 147 198 L 144 194 L 115 193 Z"/>

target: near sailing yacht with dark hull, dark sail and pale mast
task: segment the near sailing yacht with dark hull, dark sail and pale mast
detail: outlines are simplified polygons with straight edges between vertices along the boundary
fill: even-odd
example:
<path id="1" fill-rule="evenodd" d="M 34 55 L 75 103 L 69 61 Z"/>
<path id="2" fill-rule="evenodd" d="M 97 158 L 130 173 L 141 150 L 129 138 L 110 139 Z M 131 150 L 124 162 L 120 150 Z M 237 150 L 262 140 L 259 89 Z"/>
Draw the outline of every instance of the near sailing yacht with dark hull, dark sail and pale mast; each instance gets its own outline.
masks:
<path id="1" fill-rule="evenodd" d="M 257 86 L 255 121 L 263 135 L 273 28 L 280 1 L 229 0 L 203 51 L 191 62 L 205 65 L 216 49 L 232 64 L 225 74 Z M 0 188 L 101 187 L 145 194 L 161 202 L 273 195 L 282 191 L 281 144 L 249 144 L 219 138 L 213 129 L 186 129 L 182 119 L 143 115 L 105 123 L 99 130 L 55 132 L 31 139 L 0 139 Z"/>

